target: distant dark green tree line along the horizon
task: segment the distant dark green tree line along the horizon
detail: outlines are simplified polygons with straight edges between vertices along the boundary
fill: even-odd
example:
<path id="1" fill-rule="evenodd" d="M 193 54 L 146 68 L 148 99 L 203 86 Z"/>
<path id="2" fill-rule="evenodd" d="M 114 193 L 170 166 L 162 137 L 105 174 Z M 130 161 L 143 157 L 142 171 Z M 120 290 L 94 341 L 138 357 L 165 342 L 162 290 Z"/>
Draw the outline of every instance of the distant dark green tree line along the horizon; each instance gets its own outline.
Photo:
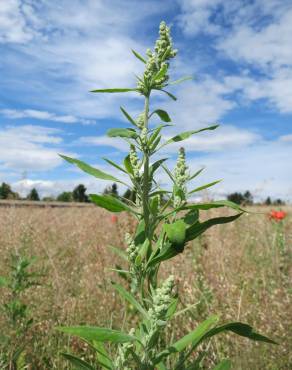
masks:
<path id="1" fill-rule="evenodd" d="M 5 182 L 0 185 L 0 199 L 11 199 L 11 200 L 31 200 L 31 201 L 57 201 L 57 202 L 82 202 L 87 203 L 89 202 L 88 195 L 86 194 L 86 187 L 83 184 L 77 185 L 72 191 L 63 191 L 56 197 L 52 196 L 45 196 L 43 198 L 40 197 L 36 188 L 32 188 L 30 192 L 27 194 L 26 197 L 21 197 L 19 193 L 13 191 L 11 186 Z M 118 192 L 117 184 L 113 183 L 112 185 L 108 185 L 103 194 L 109 194 L 115 197 L 122 196 L 124 199 L 131 200 L 135 202 L 136 195 L 134 191 L 127 189 L 124 194 L 120 195 Z M 249 190 L 241 193 L 241 192 L 234 192 L 227 195 L 227 199 L 240 205 L 252 205 L 254 204 L 254 197 Z M 284 205 L 285 202 L 280 199 L 272 199 L 271 197 L 267 197 L 262 204 L 266 205 Z"/>

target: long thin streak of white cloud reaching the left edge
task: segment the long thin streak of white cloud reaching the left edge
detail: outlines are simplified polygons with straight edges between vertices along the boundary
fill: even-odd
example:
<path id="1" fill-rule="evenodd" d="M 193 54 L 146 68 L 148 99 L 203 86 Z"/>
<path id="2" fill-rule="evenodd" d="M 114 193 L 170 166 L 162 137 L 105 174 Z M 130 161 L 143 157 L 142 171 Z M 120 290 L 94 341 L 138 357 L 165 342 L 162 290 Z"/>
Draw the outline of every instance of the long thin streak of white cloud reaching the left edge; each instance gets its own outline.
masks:
<path id="1" fill-rule="evenodd" d="M 62 123 L 82 123 L 84 125 L 94 124 L 95 121 L 88 120 L 84 118 L 78 118 L 72 115 L 56 115 L 55 113 L 50 113 L 46 111 L 40 111 L 35 109 L 1 109 L 0 114 L 6 118 L 10 119 L 20 119 L 20 118 L 34 118 L 37 120 L 62 122 Z"/>

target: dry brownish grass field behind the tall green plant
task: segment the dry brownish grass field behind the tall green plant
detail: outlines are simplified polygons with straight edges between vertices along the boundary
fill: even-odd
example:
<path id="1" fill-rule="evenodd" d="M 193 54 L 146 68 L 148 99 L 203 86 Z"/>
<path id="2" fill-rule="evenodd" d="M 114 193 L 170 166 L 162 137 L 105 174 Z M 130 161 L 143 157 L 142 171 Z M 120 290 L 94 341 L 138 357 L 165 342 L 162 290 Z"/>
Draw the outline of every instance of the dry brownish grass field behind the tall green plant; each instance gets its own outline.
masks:
<path id="1" fill-rule="evenodd" d="M 216 313 L 222 322 L 247 322 L 280 344 L 223 335 L 212 342 L 206 368 L 229 356 L 235 370 L 292 369 L 292 209 L 286 207 L 282 230 L 266 216 L 268 207 L 251 210 L 264 214 L 246 214 L 214 227 L 162 271 L 177 276 L 181 308 L 194 304 L 173 323 L 178 337 Z M 135 227 L 130 216 L 121 214 L 113 223 L 109 213 L 94 207 L 12 207 L 0 208 L 0 219 L 0 275 L 8 271 L 10 254 L 19 251 L 36 256 L 34 268 L 44 274 L 26 297 L 34 316 L 26 352 L 29 369 L 69 369 L 58 352 L 86 350 L 54 330 L 57 325 L 131 326 L 135 313 L 123 309 L 110 287 L 110 280 L 119 278 L 107 269 L 119 263 L 107 246 L 124 247 L 125 231 Z M 0 303 L 5 299 L 1 293 Z M 3 316 L 0 324 L 5 332 Z"/>

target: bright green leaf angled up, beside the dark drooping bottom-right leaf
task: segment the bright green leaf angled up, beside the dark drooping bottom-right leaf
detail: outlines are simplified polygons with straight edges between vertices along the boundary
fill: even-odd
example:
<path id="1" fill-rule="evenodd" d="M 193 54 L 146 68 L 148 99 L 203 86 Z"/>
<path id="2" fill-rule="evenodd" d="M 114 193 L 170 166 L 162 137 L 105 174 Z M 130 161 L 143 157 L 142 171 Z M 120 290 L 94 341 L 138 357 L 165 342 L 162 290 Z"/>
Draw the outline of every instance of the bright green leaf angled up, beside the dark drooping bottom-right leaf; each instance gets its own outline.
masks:
<path id="1" fill-rule="evenodd" d="M 214 326 L 218 322 L 218 319 L 218 316 L 214 315 L 203 321 L 195 330 L 191 331 L 177 342 L 173 343 L 168 349 L 158 354 L 157 358 L 155 359 L 155 363 L 159 363 L 163 358 L 172 353 L 183 351 L 189 345 L 192 345 L 192 347 L 197 346 L 201 342 L 201 339 L 204 337 L 204 335 L 210 330 L 210 327 Z"/>

